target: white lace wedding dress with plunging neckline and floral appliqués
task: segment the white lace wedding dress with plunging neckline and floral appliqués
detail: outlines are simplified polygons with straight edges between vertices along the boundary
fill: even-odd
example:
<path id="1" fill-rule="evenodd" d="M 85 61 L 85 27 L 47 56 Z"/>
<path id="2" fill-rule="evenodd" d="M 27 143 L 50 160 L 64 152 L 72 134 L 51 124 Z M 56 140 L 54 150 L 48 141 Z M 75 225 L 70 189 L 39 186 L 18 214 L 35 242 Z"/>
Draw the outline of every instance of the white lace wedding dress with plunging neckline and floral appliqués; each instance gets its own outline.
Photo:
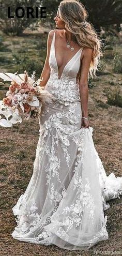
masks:
<path id="1" fill-rule="evenodd" d="M 56 100 L 45 103 L 34 171 L 24 194 L 12 208 L 17 227 L 12 237 L 68 250 L 89 249 L 108 239 L 110 199 L 120 198 L 122 178 L 106 176 L 93 142 L 93 128 L 81 128 L 81 100 L 76 76 L 82 48 L 58 78 L 55 31 L 50 78 L 45 85 Z"/>

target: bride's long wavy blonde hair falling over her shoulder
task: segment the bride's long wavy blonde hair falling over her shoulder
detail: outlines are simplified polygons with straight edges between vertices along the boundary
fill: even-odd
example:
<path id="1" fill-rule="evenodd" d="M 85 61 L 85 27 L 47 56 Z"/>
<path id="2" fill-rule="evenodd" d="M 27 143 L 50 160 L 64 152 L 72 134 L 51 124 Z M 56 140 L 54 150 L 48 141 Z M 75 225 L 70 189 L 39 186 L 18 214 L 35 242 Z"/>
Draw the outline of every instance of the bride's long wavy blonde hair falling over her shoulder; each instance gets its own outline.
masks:
<path id="1" fill-rule="evenodd" d="M 101 41 L 93 25 L 86 21 L 88 13 L 84 5 L 77 0 L 63 0 L 58 6 L 60 19 L 66 24 L 65 28 L 71 32 L 82 48 L 94 49 L 92 53 L 89 76 L 96 77 L 96 70 L 101 65 L 100 57 L 103 55 Z"/>

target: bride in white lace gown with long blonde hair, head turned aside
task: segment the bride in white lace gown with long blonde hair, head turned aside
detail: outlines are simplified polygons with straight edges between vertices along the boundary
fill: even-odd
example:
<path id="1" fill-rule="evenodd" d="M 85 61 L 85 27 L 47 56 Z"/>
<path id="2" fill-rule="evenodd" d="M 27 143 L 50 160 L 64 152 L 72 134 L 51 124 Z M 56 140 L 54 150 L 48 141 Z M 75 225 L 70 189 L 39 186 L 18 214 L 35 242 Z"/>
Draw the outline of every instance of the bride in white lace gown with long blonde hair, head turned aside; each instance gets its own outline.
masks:
<path id="1" fill-rule="evenodd" d="M 42 108 L 33 175 L 12 207 L 13 238 L 68 250 L 108 239 L 106 201 L 122 193 L 122 178 L 106 176 L 89 126 L 87 79 L 96 76 L 102 52 L 86 18 L 79 1 L 60 2 L 40 77 L 56 100 Z"/>

